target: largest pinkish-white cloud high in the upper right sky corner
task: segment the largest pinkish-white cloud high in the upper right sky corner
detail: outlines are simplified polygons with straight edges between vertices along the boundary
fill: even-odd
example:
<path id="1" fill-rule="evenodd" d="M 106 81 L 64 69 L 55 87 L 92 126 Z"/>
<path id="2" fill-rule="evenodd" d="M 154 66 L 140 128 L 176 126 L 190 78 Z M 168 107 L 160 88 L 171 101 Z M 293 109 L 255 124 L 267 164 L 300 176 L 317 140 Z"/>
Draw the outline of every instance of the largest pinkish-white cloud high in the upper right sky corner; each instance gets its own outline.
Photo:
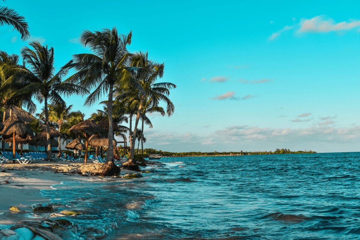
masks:
<path id="1" fill-rule="evenodd" d="M 360 27 L 360 20 L 350 20 L 349 22 L 336 23 L 333 19 L 323 15 L 315 16 L 310 19 L 301 19 L 300 29 L 298 32 L 332 32 L 332 31 L 349 31 Z"/>

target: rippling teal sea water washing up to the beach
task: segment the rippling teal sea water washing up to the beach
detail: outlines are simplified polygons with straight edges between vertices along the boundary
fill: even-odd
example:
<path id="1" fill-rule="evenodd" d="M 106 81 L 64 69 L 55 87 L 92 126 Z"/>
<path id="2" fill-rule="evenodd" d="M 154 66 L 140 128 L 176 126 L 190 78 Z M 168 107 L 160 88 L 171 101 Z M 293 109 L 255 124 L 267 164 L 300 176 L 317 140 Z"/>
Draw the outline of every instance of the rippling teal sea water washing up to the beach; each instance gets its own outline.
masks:
<path id="1" fill-rule="evenodd" d="M 87 210 L 68 218 L 89 239 L 360 239 L 360 153 L 161 161 L 144 178 L 42 194 Z"/>

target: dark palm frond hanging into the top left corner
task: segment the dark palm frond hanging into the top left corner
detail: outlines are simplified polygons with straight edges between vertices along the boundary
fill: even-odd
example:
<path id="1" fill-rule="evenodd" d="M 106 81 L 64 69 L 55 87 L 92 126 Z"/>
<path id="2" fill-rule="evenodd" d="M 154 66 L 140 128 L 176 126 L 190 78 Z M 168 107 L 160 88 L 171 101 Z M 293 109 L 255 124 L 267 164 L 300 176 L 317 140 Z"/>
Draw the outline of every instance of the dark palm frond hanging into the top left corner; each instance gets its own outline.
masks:
<path id="1" fill-rule="evenodd" d="M 15 12 L 14 9 L 0 6 L 0 26 L 4 24 L 14 27 L 21 34 L 22 40 L 30 37 L 29 27 L 27 22 L 25 22 L 25 18 Z"/>

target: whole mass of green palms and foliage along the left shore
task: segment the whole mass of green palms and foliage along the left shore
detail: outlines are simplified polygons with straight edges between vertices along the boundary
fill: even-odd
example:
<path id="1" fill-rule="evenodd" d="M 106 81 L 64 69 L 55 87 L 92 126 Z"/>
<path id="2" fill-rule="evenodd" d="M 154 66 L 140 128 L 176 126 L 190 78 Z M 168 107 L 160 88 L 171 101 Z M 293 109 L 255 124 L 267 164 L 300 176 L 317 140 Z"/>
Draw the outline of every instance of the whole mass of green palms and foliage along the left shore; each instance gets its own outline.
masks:
<path id="1" fill-rule="evenodd" d="M 4 24 L 13 26 L 23 40 L 30 37 L 25 18 L 13 9 L 0 6 L 0 25 Z M 117 137 L 123 140 L 122 149 L 129 155 L 128 164 L 136 164 L 136 147 L 140 154 L 141 144 L 141 154 L 144 153 L 147 140 L 145 126 L 153 127 L 149 114 L 171 116 L 174 113 L 175 107 L 169 95 L 176 85 L 158 82 L 163 77 L 164 63 L 149 59 L 147 52 L 130 53 L 127 50 L 131 38 L 131 32 L 124 35 L 118 33 L 116 27 L 100 31 L 84 30 L 79 43 L 90 53 L 75 54 L 63 66 L 55 66 L 54 48 L 38 41 L 28 42 L 20 50 L 20 56 L 0 49 L 0 122 L 12 115 L 14 107 L 35 113 L 36 104 L 41 103 L 37 119 L 24 121 L 32 133 L 18 138 L 34 144 L 35 135 L 45 136 L 47 156 L 51 160 L 51 139 L 55 139 L 52 132 L 57 132 L 59 152 L 63 150 L 61 140 L 89 140 L 91 131 L 75 131 L 73 128 L 82 126 L 81 123 L 86 121 L 85 114 L 80 110 L 73 111 L 73 105 L 67 105 L 64 100 L 71 95 L 86 95 L 84 105 L 91 106 L 99 101 L 103 104 L 103 109 L 96 110 L 89 119 L 96 128 L 98 123 L 102 124 L 101 129 L 106 131 L 98 137 L 108 140 L 108 145 L 102 148 L 108 151 L 107 162 L 113 161 L 116 149 L 113 140 Z M 20 61 L 23 64 L 19 64 Z M 68 75 L 68 72 L 71 74 Z M 0 123 L 0 135 L 4 131 L 1 128 L 3 125 Z M 7 136 L 2 136 L 2 140 L 4 137 Z M 125 148 L 126 141 L 129 141 L 128 148 Z"/>

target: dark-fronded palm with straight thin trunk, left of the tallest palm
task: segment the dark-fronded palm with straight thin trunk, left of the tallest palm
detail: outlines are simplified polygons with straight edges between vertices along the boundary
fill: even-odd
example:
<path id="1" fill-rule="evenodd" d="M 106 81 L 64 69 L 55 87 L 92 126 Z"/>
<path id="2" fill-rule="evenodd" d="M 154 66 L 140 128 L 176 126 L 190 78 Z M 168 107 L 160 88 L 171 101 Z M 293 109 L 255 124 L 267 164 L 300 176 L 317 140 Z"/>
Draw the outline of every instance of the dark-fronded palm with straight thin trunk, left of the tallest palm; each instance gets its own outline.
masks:
<path id="1" fill-rule="evenodd" d="M 68 66 L 71 62 L 60 68 L 55 73 L 54 67 L 54 48 L 48 49 L 48 46 L 42 46 L 40 42 L 30 42 L 28 47 L 21 49 L 21 56 L 24 64 L 28 67 L 23 69 L 22 77 L 30 80 L 30 84 L 23 88 L 23 92 L 31 92 L 37 101 L 44 101 L 46 138 L 48 145 L 48 159 L 51 159 L 50 145 L 50 126 L 48 102 L 51 104 L 65 104 L 61 95 L 70 96 L 73 94 L 86 94 L 88 91 L 73 83 L 62 82 L 62 78 L 68 72 Z"/>

